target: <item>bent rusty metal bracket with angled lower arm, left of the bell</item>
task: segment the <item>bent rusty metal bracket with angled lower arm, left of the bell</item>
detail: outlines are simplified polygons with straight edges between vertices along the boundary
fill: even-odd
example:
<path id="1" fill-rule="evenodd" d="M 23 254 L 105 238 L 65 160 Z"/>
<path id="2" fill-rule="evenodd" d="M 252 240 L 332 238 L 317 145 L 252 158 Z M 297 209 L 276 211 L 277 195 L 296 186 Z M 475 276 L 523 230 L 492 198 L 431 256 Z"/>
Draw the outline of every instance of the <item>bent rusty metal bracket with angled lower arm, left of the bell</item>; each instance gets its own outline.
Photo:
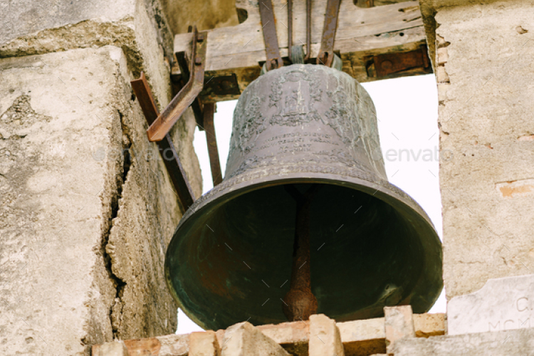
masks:
<path id="1" fill-rule="evenodd" d="M 175 122 L 189 108 L 195 98 L 204 88 L 204 64 L 206 62 L 207 31 L 199 33 L 194 28 L 192 40 L 191 63 L 189 63 L 189 80 L 184 88 L 172 99 L 157 119 L 148 127 L 147 135 L 150 141 L 161 141 L 167 135 Z"/>

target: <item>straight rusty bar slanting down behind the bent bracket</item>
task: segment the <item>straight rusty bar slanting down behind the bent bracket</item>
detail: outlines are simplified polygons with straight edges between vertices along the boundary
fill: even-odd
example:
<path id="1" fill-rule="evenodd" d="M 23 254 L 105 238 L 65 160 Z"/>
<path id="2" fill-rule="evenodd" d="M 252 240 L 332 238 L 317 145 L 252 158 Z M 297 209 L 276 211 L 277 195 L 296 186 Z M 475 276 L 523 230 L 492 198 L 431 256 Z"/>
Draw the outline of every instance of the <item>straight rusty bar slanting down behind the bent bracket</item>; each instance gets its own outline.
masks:
<path id="1" fill-rule="evenodd" d="M 152 98 L 152 92 L 145 78 L 145 73 L 141 73 L 139 79 L 132 80 L 130 83 L 132 84 L 135 96 L 137 96 L 137 100 L 139 100 L 148 125 L 152 125 L 159 116 L 159 110 L 157 110 L 157 106 Z M 189 180 L 187 180 L 184 167 L 182 167 L 182 163 L 174 149 L 170 135 L 168 133 L 165 134 L 163 140 L 157 142 L 157 146 L 159 148 L 159 155 L 162 156 L 165 167 L 167 167 L 167 172 L 169 172 L 169 177 L 174 185 L 174 189 L 176 189 L 178 198 L 184 210 L 187 210 L 194 203 L 195 197 Z"/>

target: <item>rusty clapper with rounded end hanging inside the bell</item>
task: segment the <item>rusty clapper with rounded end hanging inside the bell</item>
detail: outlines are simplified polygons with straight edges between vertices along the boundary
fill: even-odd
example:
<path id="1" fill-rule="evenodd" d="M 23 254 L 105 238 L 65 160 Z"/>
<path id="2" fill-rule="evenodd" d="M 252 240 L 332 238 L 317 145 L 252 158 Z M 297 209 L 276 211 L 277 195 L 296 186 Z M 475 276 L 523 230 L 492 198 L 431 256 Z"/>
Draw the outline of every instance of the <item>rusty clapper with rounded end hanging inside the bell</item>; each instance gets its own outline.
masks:
<path id="1" fill-rule="evenodd" d="M 310 281 L 310 207 L 320 185 L 313 184 L 304 194 L 292 184 L 284 188 L 297 203 L 293 268 L 290 290 L 283 298 L 283 313 L 290 321 L 308 320 L 317 313 L 317 298 L 311 291 Z"/>

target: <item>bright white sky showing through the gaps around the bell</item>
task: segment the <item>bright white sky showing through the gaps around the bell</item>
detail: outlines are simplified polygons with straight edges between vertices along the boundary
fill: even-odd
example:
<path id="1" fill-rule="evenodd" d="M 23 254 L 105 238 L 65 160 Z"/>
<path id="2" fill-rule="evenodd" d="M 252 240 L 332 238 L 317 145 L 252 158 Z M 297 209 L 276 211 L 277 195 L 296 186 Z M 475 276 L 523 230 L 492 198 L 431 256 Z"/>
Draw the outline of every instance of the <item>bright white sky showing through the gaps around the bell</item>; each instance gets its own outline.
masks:
<path id="1" fill-rule="evenodd" d="M 422 206 L 442 238 L 439 193 L 438 98 L 434 74 L 363 83 L 375 102 L 380 146 L 389 182 Z M 236 100 L 217 103 L 215 130 L 221 169 L 226 167 Z M 197 130 L 194 149 L 199 157 L 204 193 L 213 187 L 206 135 Z M 444 293 L 430 313 L 445 313 Z M 202 330 L 179 310 L 177 334 Z"/>

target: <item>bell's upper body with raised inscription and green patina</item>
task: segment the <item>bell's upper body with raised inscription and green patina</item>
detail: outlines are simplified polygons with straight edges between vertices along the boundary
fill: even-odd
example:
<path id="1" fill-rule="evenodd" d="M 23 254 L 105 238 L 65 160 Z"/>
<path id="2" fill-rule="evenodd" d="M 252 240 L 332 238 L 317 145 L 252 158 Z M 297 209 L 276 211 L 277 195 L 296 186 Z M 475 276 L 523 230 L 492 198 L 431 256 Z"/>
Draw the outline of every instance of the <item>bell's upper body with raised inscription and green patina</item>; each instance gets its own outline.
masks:
<path id="1" fill-rule="evenodd" d="M 227 169 L 258 167 L 244 165 L 244 156 L 253 162 L 254 157 L 276 155 L 276 162 L 284 163 L 301 155 L 307 162 L 383 172 L 385 178 L 375 139 L 376 114 L 367 93 L 352 78 L 320 66 L 291 67 L 271 80 L 269 73 L 262 76 L 241 95 Z"/>

